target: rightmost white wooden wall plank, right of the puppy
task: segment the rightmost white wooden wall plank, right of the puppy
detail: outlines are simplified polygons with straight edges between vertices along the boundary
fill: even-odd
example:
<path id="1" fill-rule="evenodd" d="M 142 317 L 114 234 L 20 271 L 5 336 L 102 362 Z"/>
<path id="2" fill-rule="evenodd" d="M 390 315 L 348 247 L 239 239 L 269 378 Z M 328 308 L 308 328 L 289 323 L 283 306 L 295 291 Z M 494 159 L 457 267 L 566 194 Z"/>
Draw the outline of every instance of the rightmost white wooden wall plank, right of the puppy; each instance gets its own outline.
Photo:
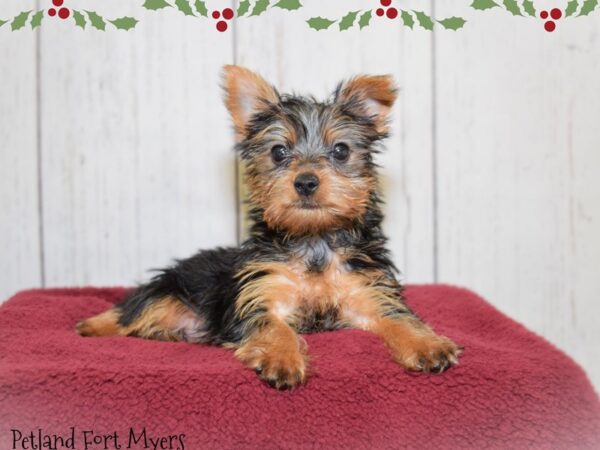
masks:
<path id="1" fill-rule="evenodd" d="M 552 34 L 506 14 L 436 37 L 439 281 L 481 293 L 600 386 L 600 14 Z"/>

